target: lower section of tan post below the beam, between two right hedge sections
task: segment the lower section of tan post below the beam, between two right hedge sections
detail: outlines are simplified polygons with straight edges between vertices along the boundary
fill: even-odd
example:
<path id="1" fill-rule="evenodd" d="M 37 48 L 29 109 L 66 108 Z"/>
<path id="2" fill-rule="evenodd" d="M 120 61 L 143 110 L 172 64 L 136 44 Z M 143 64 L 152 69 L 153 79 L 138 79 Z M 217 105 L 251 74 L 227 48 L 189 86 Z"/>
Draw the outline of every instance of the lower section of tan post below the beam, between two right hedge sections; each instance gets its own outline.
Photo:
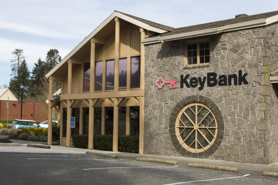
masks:
<path id="1" fill-rule="evenodd" d="M 119 107 L 118 98 L 114 98 L 114 116 L 113 116 L 113 151 L 118 151 L 118 132 L 119 132 Z"/>

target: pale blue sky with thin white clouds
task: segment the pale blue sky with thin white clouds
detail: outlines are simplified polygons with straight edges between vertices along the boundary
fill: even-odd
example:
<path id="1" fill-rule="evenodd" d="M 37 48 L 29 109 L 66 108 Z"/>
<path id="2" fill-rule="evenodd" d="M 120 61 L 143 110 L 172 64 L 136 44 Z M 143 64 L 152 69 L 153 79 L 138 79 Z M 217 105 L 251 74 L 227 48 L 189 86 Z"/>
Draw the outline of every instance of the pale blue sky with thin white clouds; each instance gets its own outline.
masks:
<path id="1" fill-rule="evenodd" d="M 0 0 L 0 88 L 9 85 L 14 49 L 32 72 L 57 49 L 62 59 L 98 27 L 114 10 L 174 28 L 278 10 L 277 0 Z"/>

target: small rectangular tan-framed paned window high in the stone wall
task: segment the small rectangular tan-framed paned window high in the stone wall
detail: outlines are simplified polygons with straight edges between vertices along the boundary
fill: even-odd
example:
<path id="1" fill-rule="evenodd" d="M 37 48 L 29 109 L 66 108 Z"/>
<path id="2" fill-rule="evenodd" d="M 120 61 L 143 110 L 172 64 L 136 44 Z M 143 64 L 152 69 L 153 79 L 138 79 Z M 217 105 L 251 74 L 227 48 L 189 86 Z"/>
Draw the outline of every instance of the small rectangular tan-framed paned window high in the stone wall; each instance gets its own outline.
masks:
<path id="1" fill-rule="evenodd" d="M 209 45 L 209 47 L 202 48 L 200 44 Z M 191 49 L 191 46 L 196 46 L 196 48 Z M 209 51 L 209 53 L 201 54 L 203 49 Z M 206 57 L 206 60 L 200 60 L 200 58 Z M 193 58 L 195 62 L 193 62 Z M 208 62 L 207 62 L 208 61 Z M 203 63 L 204 62 L 204 63 Z M 195 64 L 193 64 L 195 63 Z M 210 64 L 210 41 L 209 39 L 192 40 L 184 43 L 184 66 L 198 66 Z"/>

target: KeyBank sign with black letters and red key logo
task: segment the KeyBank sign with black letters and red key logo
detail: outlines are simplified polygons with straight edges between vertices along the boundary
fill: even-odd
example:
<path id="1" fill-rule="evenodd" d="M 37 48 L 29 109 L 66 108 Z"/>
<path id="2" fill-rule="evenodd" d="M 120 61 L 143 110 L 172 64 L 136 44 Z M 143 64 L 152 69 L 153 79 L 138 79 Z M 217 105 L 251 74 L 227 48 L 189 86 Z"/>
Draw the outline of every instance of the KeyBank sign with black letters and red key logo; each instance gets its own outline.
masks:
<path id="1" fill-rule="evenodd" d="M 185 75 L 185 77 L 183 75 L 180 75 L 180 88 L 183 88 L 184 85 L 187 88 L 191 88 L 191 87 L 197 87 L 199 85 L 199 90 L 202 90 L 205 86 L 205 83 L 207 84 L 208 87 L 213 87 L 216 86 L 218 84 L 218 86 L 231 86 L 232 85 L 232 81 L 234 82 L 234 85 L 242 85 L 243 84 L 248 84 L 247 80 L 246 80 L 246 76 L 247 73 L 244 73 L 242 75 L 242 70 L 238 71 L 238 75 L 237 74 L 232 74 L 232 75 L 220 75 L 217 78 L 217 74 L 212 72 L 212 73 L 207 73 L 206 76 L 204 76 L 203 78 L 201 77 L 192 77 L 191 79 L 188 79 L 190 75 Z M 164 80 L 162 79 L 162 77 L 159 77 L 156 80 L 156 86 L 161 89 L 162 86 L 164 86 L 164 84 L 170 84 L 170 88 L 175 88 L 176 87 L 176 83 L 177 80 Z"/>

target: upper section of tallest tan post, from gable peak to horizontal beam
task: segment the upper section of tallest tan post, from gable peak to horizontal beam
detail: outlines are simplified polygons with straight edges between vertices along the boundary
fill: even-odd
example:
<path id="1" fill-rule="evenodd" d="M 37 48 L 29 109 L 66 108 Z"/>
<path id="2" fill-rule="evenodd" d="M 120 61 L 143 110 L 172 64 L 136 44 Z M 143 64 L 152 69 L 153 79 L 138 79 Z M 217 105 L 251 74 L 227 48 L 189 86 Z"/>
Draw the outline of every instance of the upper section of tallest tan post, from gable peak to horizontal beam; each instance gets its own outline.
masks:
<path id="1" fill-rule="evenodd" d="M 114 91 L 119 91 L 119 60 L 120 60 L 120 21 L 118 17 L 115 17 Z"/>

